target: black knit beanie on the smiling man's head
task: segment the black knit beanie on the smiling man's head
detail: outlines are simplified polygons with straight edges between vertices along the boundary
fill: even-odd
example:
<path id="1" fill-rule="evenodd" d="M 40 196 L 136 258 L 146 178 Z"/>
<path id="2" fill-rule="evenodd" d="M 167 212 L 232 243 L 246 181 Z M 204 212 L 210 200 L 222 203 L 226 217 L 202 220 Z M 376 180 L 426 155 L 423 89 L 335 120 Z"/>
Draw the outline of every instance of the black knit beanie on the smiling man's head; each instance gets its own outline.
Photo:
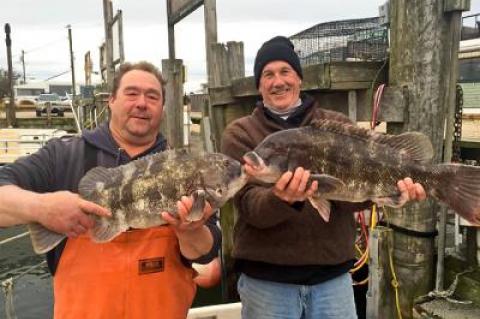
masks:
<path id="1" fill-rule="evenodd" d="M 253 67 L 253 74 L 255 75 L 255 84 L 260 84 L 260 77 L 262 75 L 265 65 L 272 61 L 285 61 L 297 72 L 298 76 L 303 79 L 302 66 L 297 53 L 293 49 L 293 43 L 286 37 L 276 36 L 267 42 L 258 50 L 255 57 Z"/>

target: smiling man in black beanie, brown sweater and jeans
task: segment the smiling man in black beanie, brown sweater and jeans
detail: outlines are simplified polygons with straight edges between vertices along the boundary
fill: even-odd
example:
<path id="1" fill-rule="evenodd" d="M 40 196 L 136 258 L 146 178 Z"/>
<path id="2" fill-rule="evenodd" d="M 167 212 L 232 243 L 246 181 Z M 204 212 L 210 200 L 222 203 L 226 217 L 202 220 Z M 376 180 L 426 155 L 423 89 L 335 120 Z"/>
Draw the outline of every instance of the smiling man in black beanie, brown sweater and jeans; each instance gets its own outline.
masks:
<path id="1" fill-rule="evenodd" d="M 287 38 L 277 36 L 263 44 L 254 75 L 262 101 L 251 115 L 225 129 L 223 153 L 243 161 L 246 152 L 273 132 L 317 119 L 350 123 L 301 94 L 302 68 Z M 253 167 L 245 168 L 254 174 Z M 233 254 L 243 318 L 357 318 L 348 273 L 354 263 L 353 212 L 371 203 L 332 202 L 327 223 L 305 201 L 318 186 L 308 185 L 309 177 L 309 171 L 298 167 L 272 187 L 249 183 L 234 198 L 238 220 Z M 426 196 L 410 178 L 398 186 L 409 200 Z"/>

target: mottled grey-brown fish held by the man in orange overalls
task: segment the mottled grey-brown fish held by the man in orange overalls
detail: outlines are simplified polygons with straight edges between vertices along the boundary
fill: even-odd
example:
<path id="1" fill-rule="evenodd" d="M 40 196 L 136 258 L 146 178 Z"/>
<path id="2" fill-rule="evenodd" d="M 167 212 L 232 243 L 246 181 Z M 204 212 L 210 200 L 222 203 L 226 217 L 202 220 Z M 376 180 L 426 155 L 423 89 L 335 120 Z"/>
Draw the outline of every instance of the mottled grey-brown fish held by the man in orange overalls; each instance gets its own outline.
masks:
<path id="1" fill-rule="evenodd" d="M 205 200 L 219 208 L 245 183 L 240 163 L 226 155 L 168 150 L 115 168 L 96 167 L 82 178 L 78 190 L 82 198 L 112 212 L 111 217 L 92 215 L 96 224 L 91 238 L 106 242 L 130 227 L 165 224 L 160 213 L 175 213 L 176 202 L 183 195 L 193 195 L 188 219 L 198 220 Z M 65 238 L 39 224 L 29 228 L 36 253 L 49 251 Z"/>

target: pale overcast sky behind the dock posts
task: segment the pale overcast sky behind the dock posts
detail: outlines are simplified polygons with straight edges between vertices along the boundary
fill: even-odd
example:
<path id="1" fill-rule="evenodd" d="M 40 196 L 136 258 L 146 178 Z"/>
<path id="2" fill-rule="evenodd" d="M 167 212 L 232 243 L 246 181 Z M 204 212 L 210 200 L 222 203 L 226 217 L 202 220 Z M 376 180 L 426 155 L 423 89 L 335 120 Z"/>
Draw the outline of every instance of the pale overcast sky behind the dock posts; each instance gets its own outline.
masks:
<path id="1" fill-rule="evenodd" d="M 256 51 L 275 35 L 291 36 L 317 23 L 378 16 L 384 0 L 217 0 L 218 41 L 243 41 L 246 73 L 251 75 Z M 0 68 L 7 68 L 3 26 L 12 28 L 15 71 L 21 73 L 25 50 L 28 78 L 44 80 L 70 69 L 67 25 L 71 25 L 75 76 L 84 81 L 83 59 L 91 51 L 98 71 L 98 48 L 104 41 L 102 0 L 0 0 Z M 114 12 L 123 11 L 125 58 L 148 60 L 161 66 L 168 57 L 166 0 L 113 0 Z M 471 1 L 471 11 L 480 13 L 480 0 Z M 205 82 L 205 33 L 203 7 L 175 27 L 176 56 L 187 66 L 186 91 Z M 98 78 L 97 78 L 98 79 Z M 71 81 L 71 75 L 55 82 Z"/>

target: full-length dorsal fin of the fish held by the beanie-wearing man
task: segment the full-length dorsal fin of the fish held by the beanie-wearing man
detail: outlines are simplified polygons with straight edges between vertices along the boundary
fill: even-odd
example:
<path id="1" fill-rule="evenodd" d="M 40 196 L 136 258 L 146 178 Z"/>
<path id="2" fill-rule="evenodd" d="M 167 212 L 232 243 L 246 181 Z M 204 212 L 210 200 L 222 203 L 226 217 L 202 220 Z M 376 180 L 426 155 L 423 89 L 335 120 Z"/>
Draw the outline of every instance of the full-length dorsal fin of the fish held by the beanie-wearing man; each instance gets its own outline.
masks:
<path id="1" fill-rule="evenodd" d="M 332 120 L 318 120 L 313 122 L 312 126 L 322 131 L 371 140 L 376 143 L 388 145 L 389 147 L 398 150 L 402 156 L 420 163 L 428 163 L 433 158 L 432 143 L 425 134 L 420 132 L 406 132 L 400 135 L 389 135 L 374 132 L 349 123 Z"/>

